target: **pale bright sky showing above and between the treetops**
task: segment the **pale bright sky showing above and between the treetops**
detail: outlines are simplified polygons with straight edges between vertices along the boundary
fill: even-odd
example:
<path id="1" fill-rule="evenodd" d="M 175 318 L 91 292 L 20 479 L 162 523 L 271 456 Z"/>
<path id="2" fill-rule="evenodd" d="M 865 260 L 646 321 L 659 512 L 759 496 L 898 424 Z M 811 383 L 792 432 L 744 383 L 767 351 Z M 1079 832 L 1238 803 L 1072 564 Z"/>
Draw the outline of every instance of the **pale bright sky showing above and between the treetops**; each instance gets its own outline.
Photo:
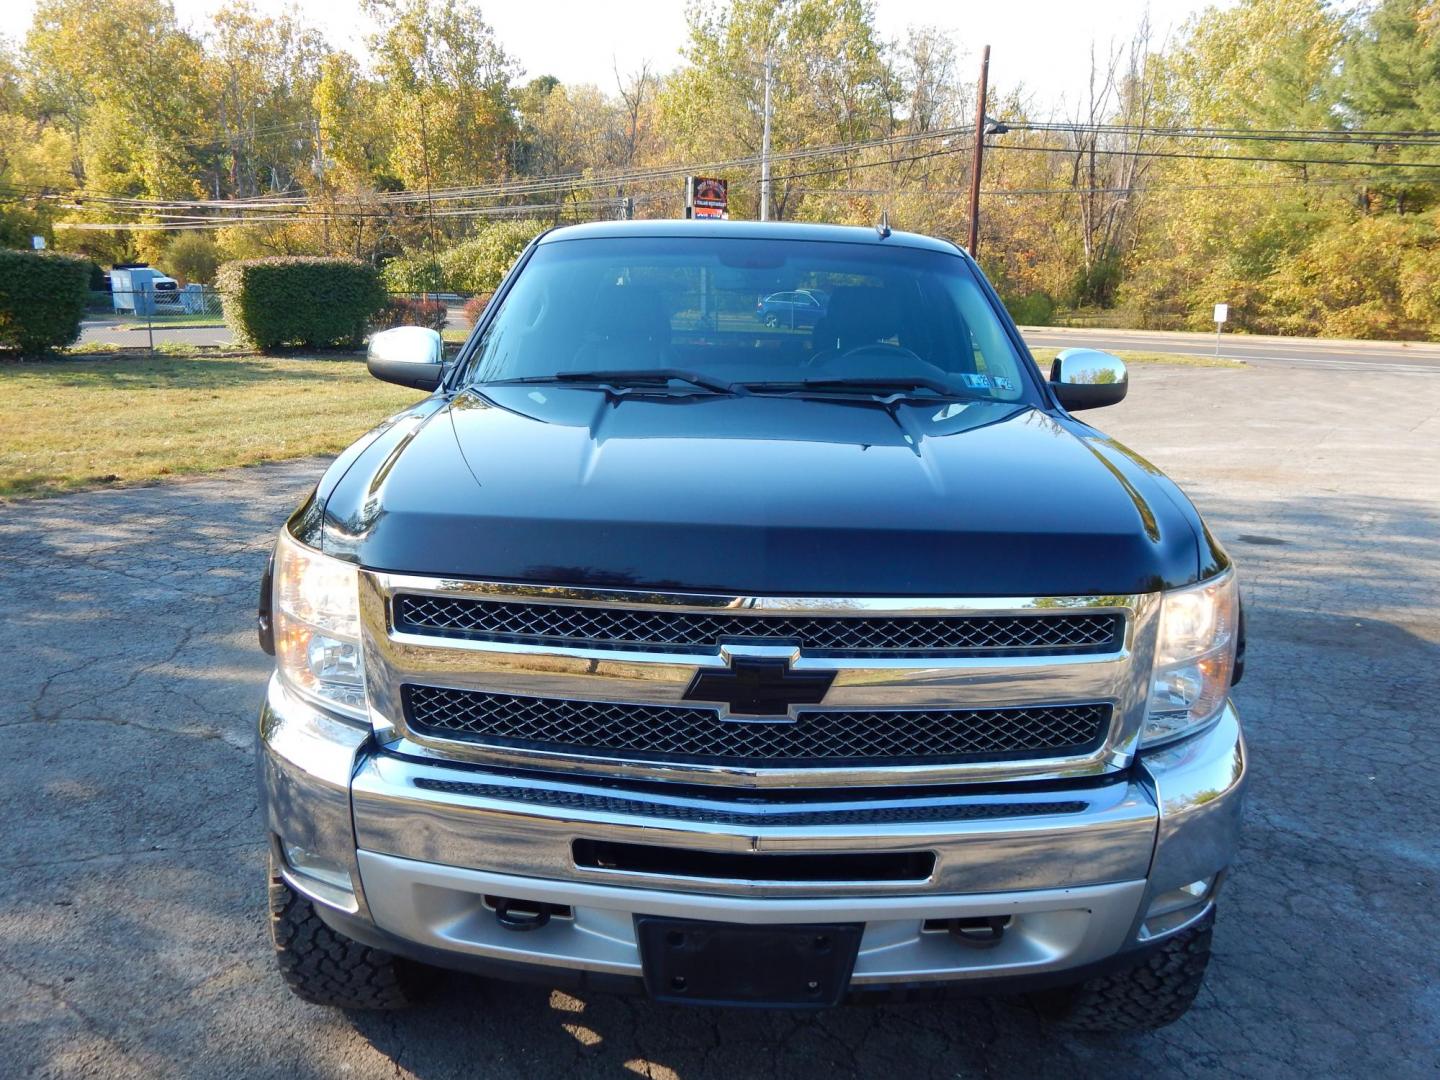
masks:
<path id="1" fill-rule="evenodd" d="M 876 0 L 883 36 L 901 37 L 910 26 L 937 26 L 948 32 L 963 63 L 979 71 L 981 46 L 991 46 L 991 85 L 1022 85 L 1038 107 L 1063 111 L 1066 99 L 1079 99 L 1089 73 L 1092 42 L 1102 55 L 1109 45 L 1129 39 L 1149 10 L 1153 40 L 1162 42 L 1194 13 L 1227 0 L 1024 0 L 989 4 L 975 0 Z M 203 30 L 223 0 L 174 0 L 180 22 Z M 356 52 L 369 30 L 357 3 L 334 0 L 253 0 L 262 12 L 295 6 L 311 24 L 337 45 Z M 680 63 L 685 40 L 683 0 L 504 0 L 485 3 L 481 12 L 514 56 L 526 76 L 554 75 L 562 82 L 593 82 L 613 91 L 613 68 L 635 71 L 645 60 L 658 71 Z M 19 40 L 29 29 L 35 0 L 0 0 L 0 35 Z"/>

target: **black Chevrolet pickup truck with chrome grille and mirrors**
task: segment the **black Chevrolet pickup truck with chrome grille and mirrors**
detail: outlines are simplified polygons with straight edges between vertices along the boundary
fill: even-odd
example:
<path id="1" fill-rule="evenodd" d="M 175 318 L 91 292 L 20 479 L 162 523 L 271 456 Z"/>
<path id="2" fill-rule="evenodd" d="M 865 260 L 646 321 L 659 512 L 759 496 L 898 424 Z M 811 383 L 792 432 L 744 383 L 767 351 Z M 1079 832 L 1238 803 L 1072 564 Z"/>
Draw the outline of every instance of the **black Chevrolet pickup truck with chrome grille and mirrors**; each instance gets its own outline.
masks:
<path id="1" fill-rule="evenodd" d="M 852 282 L 824 334 L 683 317 L 780 275 Z M 340 455 L 261 589 L 300 996 L 392 1008 L 455 968 L 1185 1012 L 1244 622 L 1179 488 L 1074 415 L 1120 360 L 1043 373 L 943 240 L 612 222 L 531 243 L 458 357 L 402 327 L 369 369 L 431 393 Z"/>

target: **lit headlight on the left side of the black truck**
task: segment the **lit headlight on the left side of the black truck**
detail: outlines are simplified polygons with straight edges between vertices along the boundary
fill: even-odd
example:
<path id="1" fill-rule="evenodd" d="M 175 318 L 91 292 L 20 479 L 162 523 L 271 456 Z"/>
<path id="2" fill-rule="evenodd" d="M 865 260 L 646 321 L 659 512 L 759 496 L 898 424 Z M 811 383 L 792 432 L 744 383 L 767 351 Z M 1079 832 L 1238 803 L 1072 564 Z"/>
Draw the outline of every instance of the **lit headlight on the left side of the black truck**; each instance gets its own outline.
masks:
<path id="1" fill-rule="evenodd" d="M 366 719 L 360 655 L 360 593 L 353 563 L 297 543 L 281 528 L 275 546 L 275 664 L 305 697 Z"/>

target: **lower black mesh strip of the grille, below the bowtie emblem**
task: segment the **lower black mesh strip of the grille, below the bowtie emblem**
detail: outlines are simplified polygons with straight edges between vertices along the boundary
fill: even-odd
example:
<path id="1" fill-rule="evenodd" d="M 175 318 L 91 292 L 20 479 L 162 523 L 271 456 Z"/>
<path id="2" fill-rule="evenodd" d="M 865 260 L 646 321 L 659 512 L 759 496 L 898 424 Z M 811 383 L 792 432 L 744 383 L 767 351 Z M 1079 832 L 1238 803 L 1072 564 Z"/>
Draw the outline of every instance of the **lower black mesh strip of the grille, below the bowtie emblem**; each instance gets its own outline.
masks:
<path id="1" fill-rule="evenodd" d="M 721 720 L 713 708 L 517 697 L 405 687 L 420 734 L 629 757 L 716 763 L 903 765 L 1083 753 L 1104 737 L 1110 707 L 799 711 L 795 721 Z"/>

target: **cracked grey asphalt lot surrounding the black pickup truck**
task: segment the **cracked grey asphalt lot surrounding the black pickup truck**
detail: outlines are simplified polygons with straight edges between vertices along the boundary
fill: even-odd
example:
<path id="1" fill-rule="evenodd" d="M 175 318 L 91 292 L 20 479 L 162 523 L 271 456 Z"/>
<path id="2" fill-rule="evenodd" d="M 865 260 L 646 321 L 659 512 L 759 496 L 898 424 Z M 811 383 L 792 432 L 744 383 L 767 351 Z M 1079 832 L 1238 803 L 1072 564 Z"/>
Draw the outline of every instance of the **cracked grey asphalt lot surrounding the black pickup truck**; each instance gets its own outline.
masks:
<path id="1" fill-rule="evenodd" d="M 1434 1077 L 1437 370 L 1140 367 L 1094 415 L 1189 491 L 1250 615 L 1244 847 L 1198 1005 L 1140 1037 L 461 976 L 408 1014 L 304 1005 L 264 917 L 252 609 L 323 462 L 0 507 L 0 1074 Z"/>

